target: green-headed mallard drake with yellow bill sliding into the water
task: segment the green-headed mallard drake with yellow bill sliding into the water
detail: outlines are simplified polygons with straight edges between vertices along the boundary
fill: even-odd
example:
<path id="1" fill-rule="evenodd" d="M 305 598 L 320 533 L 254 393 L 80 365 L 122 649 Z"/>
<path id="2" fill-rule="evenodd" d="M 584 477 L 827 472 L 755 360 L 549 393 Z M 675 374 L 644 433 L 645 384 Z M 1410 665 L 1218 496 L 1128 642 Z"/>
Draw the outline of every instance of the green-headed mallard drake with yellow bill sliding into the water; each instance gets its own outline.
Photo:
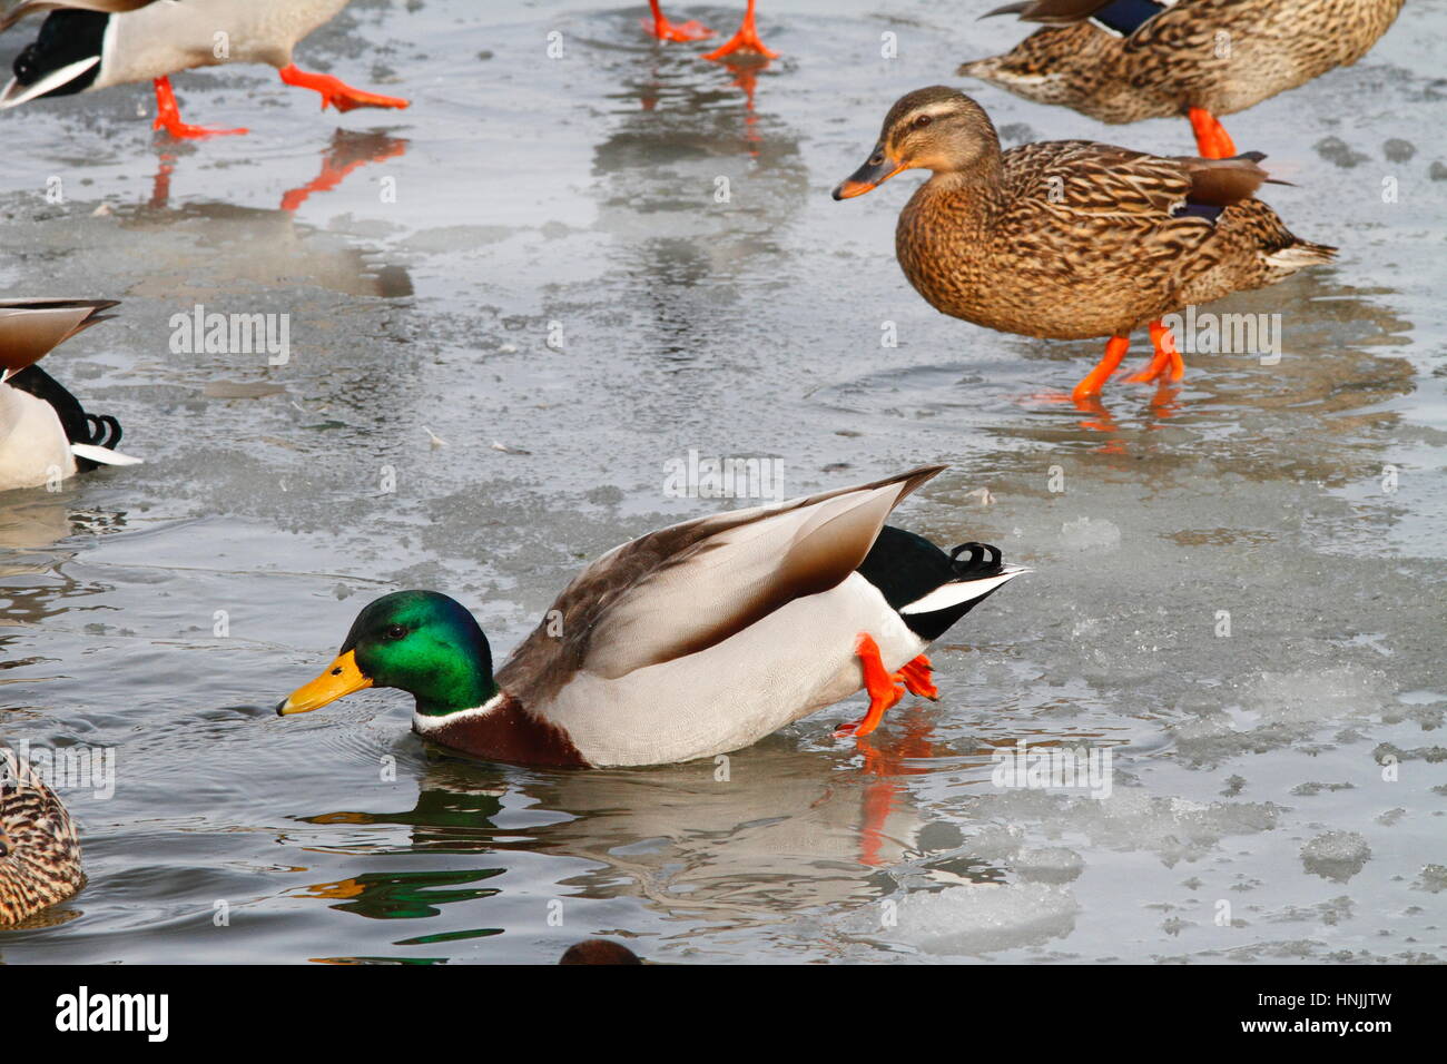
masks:
<path id="1" fill-rule="evenodd" d="M 276 712 L 401 688 L 417 699 L 412 728 L 443 746 L 603 767 L 738 750 L 862 685 L 870 709 L 838 734 L 867 735 L 904 688 L 938 695 L 925 649 L 1024 572 L 994 547 L 945 554 L 884 525 L 941 469 L 702 517 L 615 547 L 496 676 L 482 628 L 456 601 L 385 595 L 357 615 L 337 660 Z"/>

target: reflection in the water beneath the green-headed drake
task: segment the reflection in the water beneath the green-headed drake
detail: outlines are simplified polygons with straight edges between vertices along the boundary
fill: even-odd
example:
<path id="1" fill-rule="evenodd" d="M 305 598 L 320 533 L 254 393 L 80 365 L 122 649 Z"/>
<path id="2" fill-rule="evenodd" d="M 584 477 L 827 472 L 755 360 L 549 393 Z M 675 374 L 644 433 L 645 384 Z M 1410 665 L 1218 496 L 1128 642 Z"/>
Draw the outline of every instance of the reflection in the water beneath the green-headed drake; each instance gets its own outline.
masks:
<path id="1" fill-rule="evenodd" d="M 411 809 L 305 819 L 407 825 L 412 853 L 580 858 L 598 866 L 563 880 L 580 898 L 777 921 L 888 889 L 878 873 L 915 851 L 923 827 L 901 776 L 929 770 L 912 759 L 933 753 L 930 712 L 912 708 L 899 727 L 826 753 L 771 737 L 724 759 L 654 769 L 519 773 L 438 756 Z M 504 827 L 519 809 L 527 827 Z M 495 892 L 478 884 L 499 871 L 366 871 L 305 895 L 370 918 L 431 915 L 428 906 Z"/>

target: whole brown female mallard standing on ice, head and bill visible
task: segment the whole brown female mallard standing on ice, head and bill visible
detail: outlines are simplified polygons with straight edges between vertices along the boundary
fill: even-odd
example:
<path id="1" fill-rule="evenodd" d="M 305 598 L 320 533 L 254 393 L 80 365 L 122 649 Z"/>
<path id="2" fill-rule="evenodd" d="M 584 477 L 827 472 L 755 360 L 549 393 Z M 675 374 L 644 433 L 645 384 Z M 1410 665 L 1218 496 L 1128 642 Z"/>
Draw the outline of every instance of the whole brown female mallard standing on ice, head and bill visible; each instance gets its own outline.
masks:
<path id="1" fill-rule="evenodd" d="M 874 153 L 833 190 L 862 195 L 900 171 L 933 175 L 900 213 L 904 276 L 935 310 L 987 329 L 1055 340 L 1110 337 L 1077 385 L 1091 402 L 1149 323 L 1155 358 L 1132 381 L 1184 371 L 1160 318 L 1328 262 L 1252 198 L 1265 156 L 1156 158 L 1088 140 L 1000 151 L 990 117 L 935 85 L 890 109 Z"/>

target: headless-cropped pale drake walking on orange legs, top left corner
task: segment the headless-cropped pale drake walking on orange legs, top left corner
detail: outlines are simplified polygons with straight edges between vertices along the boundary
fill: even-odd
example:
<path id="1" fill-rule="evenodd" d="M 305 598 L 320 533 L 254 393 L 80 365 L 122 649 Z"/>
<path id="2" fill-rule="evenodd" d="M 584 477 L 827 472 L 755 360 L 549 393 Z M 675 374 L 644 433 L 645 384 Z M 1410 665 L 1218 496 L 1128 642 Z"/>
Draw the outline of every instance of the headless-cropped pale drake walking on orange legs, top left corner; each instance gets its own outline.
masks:
<path id="1" fill-rule="evenodd" d="M 297 42 L 330 22 L 347 0 L 22 0 L 0 17 L 0 33 L 27 14 L 49 12 L 41 35 L 14 61 L 0 109 L 130 81 L 156 88 L 155 129 L 174 138 L 245 133 L 181 122 L 172 74 L 227 62 L 265 62 L 288 85 L 321 94 L 321 107 L 407 107 L 394 96 L 353 88 L 330 74 L 297 69 Z"/>

